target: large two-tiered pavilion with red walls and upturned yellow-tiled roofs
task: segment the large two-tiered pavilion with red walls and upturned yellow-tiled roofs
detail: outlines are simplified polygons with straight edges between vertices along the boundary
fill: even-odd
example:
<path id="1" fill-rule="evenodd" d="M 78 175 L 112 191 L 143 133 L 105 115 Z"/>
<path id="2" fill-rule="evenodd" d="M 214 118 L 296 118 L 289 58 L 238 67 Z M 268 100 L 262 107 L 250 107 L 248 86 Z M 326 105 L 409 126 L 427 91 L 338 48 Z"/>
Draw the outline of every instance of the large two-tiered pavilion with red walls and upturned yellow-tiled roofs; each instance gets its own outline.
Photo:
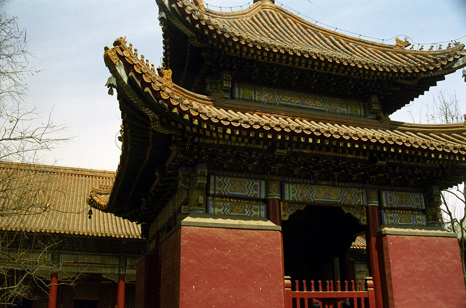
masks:
<path id="1" fill-rule="evenodd" d="M 465 45 L 371 42 L 273 2 L 217 12 L 156 0 L 158 69 L 125 38 L 105 48 L 122 153 L 113 186 L 89 204 L 141 224 L 136 307 L 465 307 L 439 206 L 466 180 L 466 124 L 389 119 L 465 67 Z M 365 299 L 340 290 L 358 235 Z M 291 291 L 285 275 L 331 281 L 333 295 Z"/>

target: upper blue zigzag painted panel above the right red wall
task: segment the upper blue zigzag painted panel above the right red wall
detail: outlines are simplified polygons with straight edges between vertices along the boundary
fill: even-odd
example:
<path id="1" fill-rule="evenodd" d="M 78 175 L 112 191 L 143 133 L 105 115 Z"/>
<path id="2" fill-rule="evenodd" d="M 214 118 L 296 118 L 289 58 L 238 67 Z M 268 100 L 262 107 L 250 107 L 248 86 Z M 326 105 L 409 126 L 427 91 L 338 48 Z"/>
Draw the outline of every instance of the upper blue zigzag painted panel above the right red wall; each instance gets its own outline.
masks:
<path id="1" fill-rule="evenodd" d="M 417 210 L 423 210 L 425 208 L 423 194 L 416 192 L 381 190 L 380 200 L 380 206 L 382 208 Z"/>

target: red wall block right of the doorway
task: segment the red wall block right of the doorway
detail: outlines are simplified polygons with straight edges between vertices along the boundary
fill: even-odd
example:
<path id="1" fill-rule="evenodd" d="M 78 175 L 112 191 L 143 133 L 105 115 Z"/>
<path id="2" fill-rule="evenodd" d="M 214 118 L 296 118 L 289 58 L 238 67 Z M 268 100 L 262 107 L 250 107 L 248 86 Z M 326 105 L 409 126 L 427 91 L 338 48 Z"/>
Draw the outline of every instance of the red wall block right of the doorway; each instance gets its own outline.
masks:
<path id="1" fill-rule="evenodd" d="M 382 237 L 390 308 L 466 307 L 455 237 Z"/>

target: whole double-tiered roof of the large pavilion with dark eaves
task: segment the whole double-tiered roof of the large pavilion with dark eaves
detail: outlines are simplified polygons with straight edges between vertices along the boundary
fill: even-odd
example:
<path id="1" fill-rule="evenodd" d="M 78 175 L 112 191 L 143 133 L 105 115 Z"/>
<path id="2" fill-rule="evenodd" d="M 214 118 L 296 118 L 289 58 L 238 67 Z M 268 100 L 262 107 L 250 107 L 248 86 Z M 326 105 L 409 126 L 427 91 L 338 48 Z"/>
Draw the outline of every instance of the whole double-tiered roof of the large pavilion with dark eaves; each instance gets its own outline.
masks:
<path id="1" fill-rule="evenodd" d="M 150 223 L 176 191 L 179 168 L 197 163 L 369 186 L 466 180 L 466 122 L 416 125 L 384 114 L 464 67 L 463 44 L 414 51 L 369 42 L 270 1 L 233 13 L 157 3 L 165 39 L 158 74 L 123 38 L 105 48 L 123 146 L 115 184 L 91 194 L 93 207 Z"/>

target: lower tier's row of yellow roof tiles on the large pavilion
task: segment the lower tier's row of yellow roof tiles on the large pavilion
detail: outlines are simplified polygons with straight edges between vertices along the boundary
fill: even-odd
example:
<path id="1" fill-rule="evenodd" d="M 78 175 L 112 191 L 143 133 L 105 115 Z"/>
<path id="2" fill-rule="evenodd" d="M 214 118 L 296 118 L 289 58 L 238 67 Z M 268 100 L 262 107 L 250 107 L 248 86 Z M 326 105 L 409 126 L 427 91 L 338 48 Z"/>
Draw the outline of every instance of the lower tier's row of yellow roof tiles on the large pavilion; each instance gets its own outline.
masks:
<path id="1" fill-rule="evenodd" d="M 141 62 L 130 49 L 126 47 L 123 39 L 116 40 L 116 48 L 108 53 L 116 53 L 118 58 L 130 66 L 136 79 L 150 84 L 150 91 L 158 93 L 164 99 L 164 108 L 172 110 L 179 108 L 179 112 L 189 117 L 198 118 L 206 123 L 231 126 L 245 129 L 264 129 L 274 134 L 304 134 L 306 136 L 320 136 L 343 138 L 345 140 L 361 140 L 381 145 L 404 145 L 407 147 L 423 148 L 466 154 L 466 124 L 453 125 L 410 125 L 400 122 L 375 120 L 361 120 L 360 122 L 327 122 L 325 114 L 316 113 L 303 117 L 288 116 L 273 113 L 271 107 L 268 112 L 254 110 L 253 106 L 238 107 L 236 101 L 226 101 L 231 108 L 218 106 L 214 98 L 186 91 L 177 85 L 170 85 L 165 79 L 156 75 L 143 62 Z M 136 76 L 138 75 L 138 76 Z M 156 95 L 157 96 L 157 95 Z M 154 104 L 158 105 L 156 101 Z M 215 107 L 214 105 L 217 105 Z M 235 107 L 236 105 L 237 107 Z M 252 107 L 251 107 L 252 106 Z M 243 108 L 244 107 L 244 108 Z M 247 110 L 246 108 L 249 108 Z M 256 107 L 260 109 L 260 107 Z M 175 110 L 174 109 L 174 110 Z M 172 110 L 173 111 L 173 110 Z M 249 112 L 248 112 L 249 111 Z M 177 111 L 178 112 L 178 111 Z M 195 122 L 195 121 L 194 121 Z M 465 121 L 466 122 L 466 121 Z M 364 124 L 363 124 L 364 123 Z M 197 122 L 197 125 L 201 125 Z M 209 127 L 207 125 L 206 127 Z"/>

